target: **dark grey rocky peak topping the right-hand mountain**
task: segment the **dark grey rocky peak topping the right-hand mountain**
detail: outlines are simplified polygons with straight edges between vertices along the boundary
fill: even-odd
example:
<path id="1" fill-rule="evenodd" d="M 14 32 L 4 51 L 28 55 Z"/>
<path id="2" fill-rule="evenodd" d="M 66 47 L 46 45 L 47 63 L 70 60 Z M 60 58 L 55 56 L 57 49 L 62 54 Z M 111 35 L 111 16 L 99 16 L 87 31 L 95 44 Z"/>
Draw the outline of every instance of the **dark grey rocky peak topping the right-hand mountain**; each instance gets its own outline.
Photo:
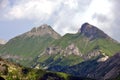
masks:
<path id="1" fill-rule="evenodd" d="M 109 36 L 105 34 L 102 30 L 98 29 L 97 27 L 89 24 L 84 23 L 78 33 L 90 38 L 90 39 L 96 39 L 96 38 L 108 38 Z"/>

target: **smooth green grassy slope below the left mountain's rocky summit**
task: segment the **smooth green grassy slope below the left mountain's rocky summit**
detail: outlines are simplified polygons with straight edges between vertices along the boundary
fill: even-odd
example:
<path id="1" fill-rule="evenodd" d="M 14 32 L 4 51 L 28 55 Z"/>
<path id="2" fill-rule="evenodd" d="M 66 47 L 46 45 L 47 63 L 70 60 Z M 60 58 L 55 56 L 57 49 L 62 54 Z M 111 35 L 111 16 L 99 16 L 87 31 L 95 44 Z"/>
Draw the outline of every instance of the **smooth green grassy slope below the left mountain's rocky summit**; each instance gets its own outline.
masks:
<path id="1" fill-rule="evenodd" d="M 1 47 L 0 53 L 20 56 L 24 58 L 20 63 L 25 65 L 41 54 L 45 47 L 47 47 L 53 40 L 54 39 L 49 36 L 16 37 L 10 40 L 5 46 Z"/>

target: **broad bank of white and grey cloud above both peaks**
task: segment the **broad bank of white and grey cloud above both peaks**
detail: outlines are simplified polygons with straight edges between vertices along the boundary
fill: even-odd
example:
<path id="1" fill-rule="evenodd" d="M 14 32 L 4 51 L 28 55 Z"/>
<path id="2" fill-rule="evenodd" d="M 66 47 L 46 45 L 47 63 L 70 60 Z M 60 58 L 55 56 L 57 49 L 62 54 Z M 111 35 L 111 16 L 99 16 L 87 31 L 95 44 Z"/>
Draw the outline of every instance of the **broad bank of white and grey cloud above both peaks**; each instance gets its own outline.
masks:
<path id="1" fill-rule="evenodd" d="M 50 23 L 61 34 L 76 32 L 81 24 L 89 22 L 111 36 L 116 34 L 112 31 L 116 26 L 112 8 L 116 5 L 111 0 L 15 0 L 8 5 L 11 1 L 2 0 L 2 7 L 7 6 L 2 14 L 6 20 L 32 20 L 36 25 Z"/>

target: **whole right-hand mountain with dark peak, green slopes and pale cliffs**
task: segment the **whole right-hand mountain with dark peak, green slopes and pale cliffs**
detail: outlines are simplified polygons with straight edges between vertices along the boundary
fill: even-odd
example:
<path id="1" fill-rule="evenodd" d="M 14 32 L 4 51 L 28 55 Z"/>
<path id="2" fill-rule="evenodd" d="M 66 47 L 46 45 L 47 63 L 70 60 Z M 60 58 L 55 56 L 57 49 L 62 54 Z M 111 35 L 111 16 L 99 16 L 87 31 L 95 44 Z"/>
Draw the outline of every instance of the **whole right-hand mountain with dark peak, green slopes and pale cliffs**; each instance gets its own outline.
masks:
<path id="1" fill-rule="evenodd" d="M 61 71 L 99 56 L 107 59 L 118 51 L 120 44 L 117 41 L 97 27 L 85 23 L 76 34 L 68 33 L 53 41 L 43 54 L 34 60 L 33 67 Z"/>

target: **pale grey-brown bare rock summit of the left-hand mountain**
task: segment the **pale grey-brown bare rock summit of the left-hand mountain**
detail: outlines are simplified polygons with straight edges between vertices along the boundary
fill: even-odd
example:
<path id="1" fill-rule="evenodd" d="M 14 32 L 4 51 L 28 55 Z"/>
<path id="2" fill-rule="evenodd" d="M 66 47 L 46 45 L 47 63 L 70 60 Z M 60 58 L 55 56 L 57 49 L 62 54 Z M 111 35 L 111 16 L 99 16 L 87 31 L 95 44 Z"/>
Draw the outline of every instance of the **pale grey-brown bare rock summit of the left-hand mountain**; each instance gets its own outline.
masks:
<path id="1" fill-rule="evenodd" d="M 27 36 L 46 36 L 49 35 L 55 39 L 60 38 L 61 36 L 55 32 L 51 26 L 43 24 L 40 27 L 34 27 L 31 31 L 25 33 Z"/>

